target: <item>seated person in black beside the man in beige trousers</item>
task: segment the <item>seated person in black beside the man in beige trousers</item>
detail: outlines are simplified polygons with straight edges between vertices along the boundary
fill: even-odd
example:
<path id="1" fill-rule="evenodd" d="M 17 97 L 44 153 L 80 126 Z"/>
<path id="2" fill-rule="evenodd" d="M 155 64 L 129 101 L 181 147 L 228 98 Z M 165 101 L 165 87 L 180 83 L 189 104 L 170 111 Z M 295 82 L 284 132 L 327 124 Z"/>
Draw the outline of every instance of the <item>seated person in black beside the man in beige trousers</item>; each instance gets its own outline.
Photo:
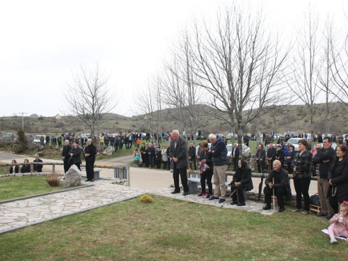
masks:
<path id="1" fill-rule="evenodd" d="M 253 181 L 251 180 L 251 168 L 246 164 L 246 161 L 243 159 L 239 159 L 238 168 L 236 170 L 235 175 L 233 175 L 233 180 L 230 183 L 231 191 L 235 191 L 237 189 L 237 193 L 232 194 L 232 203 L 231 205 L 245 206 L 245 198 L 244 198 L 244 189 L 245 191 L 251 191 L 253 189 Z M 238 199 L 239 203 L 238 203 Z"/>

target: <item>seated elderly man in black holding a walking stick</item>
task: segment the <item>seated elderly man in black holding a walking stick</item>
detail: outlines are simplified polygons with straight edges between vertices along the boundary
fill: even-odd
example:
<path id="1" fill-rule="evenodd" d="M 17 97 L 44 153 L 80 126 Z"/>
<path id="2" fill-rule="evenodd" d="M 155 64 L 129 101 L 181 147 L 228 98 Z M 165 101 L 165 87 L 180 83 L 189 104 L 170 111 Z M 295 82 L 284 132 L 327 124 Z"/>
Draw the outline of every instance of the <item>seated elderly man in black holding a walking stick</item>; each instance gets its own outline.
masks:
<path id="1" fill-rule="evenodd" d="M 287 171 L 281 167 L 280 161 L 274 161 L 273 170 L 269 173 L 264 184 L 266 184 L 266 187 L 264 187 L 263 190 L 264 203 L 266 205 L 262 207 L 262 209 L 271 209 L 271 196 L 274 190 L 278 200 L 278 212 L 283 212 L 285 210 L 284 196 L 285 200 L 291 199 L 291 188 L 289 183 L 289 174 L 287 174 Z"/>

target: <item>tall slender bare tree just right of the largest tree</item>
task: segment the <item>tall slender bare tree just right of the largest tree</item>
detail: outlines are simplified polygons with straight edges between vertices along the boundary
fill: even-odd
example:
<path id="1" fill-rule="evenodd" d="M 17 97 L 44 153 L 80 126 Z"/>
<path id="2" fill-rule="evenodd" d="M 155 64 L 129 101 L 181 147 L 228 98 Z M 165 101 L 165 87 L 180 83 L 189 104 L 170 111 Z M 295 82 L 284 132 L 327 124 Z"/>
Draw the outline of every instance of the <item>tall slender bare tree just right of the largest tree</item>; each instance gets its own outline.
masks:
<path id="1" fill-rule="evenodd" d="M 318 39 L 318 17 L 309 13 L 304 15 L 303 29 L 297 36 L 297 52 L 292 63 L 292 78 L 288 80 L 289 86 L 294 87 L 294 94 L 299 101 L 305 104 L 310 111 L 310 133 L 312 146 L 314 145 L 314 104 L 320 93 L 316 68 L 320 54 Z"/>

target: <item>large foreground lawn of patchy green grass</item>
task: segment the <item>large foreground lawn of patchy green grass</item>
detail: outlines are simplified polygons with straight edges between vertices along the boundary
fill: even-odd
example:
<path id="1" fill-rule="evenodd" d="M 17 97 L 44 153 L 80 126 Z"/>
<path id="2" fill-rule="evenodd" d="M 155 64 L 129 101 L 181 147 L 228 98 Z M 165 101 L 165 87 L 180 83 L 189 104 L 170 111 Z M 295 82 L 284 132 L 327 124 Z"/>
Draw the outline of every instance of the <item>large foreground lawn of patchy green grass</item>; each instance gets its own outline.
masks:
<path id="1" fill-rule="evenodd" d="M 153 196 L 0 235 L 0 260 L 347 260 L 329 221 L 265 216 Z"/>

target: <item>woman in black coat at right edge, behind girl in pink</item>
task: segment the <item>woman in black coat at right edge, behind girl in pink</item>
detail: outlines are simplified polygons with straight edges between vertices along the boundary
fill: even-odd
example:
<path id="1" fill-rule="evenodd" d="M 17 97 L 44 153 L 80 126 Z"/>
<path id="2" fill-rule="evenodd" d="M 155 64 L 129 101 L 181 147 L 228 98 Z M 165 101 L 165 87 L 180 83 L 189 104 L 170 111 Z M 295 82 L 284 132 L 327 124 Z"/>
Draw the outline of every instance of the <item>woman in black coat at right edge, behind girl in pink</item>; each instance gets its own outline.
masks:
<path id="1" fill-rule="evenodd" d="M 348 201 L 348 148 L 346 145 L 338 145 L 335 159 L 329 168 L 328 180 L 330 184 L 329 196 L 330 205 L 335 213 L 338 212 L 338 205 L 343 200 Z M 331 194 L 331 195 L 330 195 Z M 335 197 L 337 199 L 335 200 Z M 333 200 L 332 200 L 333 198 Z"/>

